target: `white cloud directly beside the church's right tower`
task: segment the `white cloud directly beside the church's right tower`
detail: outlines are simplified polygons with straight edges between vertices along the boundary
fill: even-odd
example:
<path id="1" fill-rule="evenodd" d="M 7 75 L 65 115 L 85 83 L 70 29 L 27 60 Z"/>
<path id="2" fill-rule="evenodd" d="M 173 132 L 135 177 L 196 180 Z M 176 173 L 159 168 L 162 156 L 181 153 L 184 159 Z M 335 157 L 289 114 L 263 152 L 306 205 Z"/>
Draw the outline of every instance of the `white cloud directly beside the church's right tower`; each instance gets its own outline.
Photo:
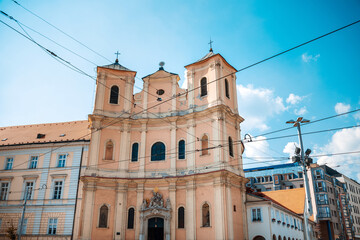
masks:
<path id="1" fill-rule="evenodd" d="M 267 130 L 266 121 L 287 108 L 281 97 L 275 96 L 274 91 L 266 88 L 255 88 L 237 85 L 239 113 L 245 118 L 242 124 L 246 131 L 252 129 Z"/>

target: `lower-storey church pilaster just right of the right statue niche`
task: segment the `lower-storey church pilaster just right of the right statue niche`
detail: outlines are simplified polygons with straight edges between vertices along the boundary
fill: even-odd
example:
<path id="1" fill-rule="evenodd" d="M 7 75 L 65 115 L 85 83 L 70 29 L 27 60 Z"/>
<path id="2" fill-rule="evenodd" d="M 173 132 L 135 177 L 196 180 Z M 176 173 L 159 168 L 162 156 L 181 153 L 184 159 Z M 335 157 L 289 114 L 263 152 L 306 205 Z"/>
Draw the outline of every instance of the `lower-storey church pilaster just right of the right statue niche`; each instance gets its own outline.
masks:
<path id="1" fill-rule="evenodd" d="M 215 227 L 215 239 L 226 239 L 223 186 L 224 183 L 221 177 L 217 177 L 214 179 L 214 205 L 212 206 L 211 211 L 214 212 L 215 222 L 211 225 Z"/>

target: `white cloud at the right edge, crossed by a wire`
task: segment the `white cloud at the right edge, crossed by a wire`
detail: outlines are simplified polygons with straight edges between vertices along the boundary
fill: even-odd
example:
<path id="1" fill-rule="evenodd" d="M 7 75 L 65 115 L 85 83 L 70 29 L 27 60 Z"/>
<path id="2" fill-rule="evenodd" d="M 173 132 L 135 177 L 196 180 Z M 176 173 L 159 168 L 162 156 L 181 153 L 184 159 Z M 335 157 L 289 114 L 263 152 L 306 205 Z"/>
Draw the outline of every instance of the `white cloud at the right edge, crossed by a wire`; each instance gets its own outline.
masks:
<path id="1" fill-rule="evenodd" d="M 314 155 L 331 153 L 345 153 L 359 151 L 360 128 L 349 128 L 337 131 L 330 142 L 323 147 L 314 149 Z M 317 160 L 318 164 L 327 164 L 348 177 L 360 180 L 358 176 L 360 161 L 359 154 L 343 154 L 333 156 L 322 156 Z"/>

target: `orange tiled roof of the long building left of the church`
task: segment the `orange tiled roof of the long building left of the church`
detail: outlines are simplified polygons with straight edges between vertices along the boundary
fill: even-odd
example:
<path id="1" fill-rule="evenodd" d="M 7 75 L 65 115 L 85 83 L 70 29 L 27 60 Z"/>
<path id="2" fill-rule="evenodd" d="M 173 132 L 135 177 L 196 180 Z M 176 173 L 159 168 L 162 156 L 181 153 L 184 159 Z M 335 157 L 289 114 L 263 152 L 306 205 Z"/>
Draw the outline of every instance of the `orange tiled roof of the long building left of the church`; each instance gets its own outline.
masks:
<path id="1" fill-rule="evenodd" d="M 89 122 L 74 121 L 0 127 L 0 147 L 35 143 L 90 141 Z"/>

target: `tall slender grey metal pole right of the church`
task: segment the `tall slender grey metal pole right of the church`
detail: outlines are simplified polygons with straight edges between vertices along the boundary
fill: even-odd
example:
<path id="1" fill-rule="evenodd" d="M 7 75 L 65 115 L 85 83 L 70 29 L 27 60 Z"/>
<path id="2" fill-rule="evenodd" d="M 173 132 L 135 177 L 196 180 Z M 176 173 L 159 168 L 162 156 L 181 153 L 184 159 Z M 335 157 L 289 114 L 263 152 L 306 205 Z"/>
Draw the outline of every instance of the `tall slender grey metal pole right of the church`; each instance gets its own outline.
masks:
<path id="1" fill-rule="evenodd" d="M 286 123 L 292 123 L 292 124 L 294 124 L 293 126 L 297 127 L 297 129 L 298 129 L 298 136 L 299 136 L 299 142 L 300 142 L 300 148 L 301 148 L 300 163 L 301 163 L 302 169 L 303 169 L 304 185 L 305 185 L 305 209 L 304 209 L 305 239 L 311 240 L 310 232 L 309 232 L 309 217 L 312 215 L 312 207 L 311 207 L 309 179 L 306 174 L 307 170 L 306 170 L 306 163 L 305 163 L 305 156 L 304 156 L 304 147 L 303 147 L 301 129 L 300 129 L 301 123 L 307 123 L 307 122 L 310 122 L 310 120 L 306 120 L 306 119 L 303 119 L 302 117 L 298 117 L 296 121 L 289 120 Z"/>

